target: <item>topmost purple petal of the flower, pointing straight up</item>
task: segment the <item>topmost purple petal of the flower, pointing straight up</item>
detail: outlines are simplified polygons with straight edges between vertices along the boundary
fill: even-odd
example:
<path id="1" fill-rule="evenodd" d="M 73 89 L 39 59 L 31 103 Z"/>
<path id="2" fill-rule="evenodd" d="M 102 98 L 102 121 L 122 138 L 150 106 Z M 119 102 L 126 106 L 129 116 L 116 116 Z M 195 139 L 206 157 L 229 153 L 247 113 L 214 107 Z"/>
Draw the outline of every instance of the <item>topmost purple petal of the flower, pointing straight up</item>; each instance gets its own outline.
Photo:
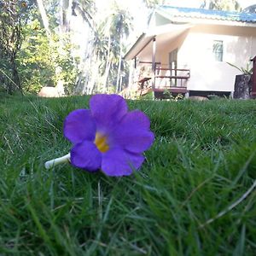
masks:
<path id="1" fill-rule="evenodd" d="M 119 95 L 98 94 L 90 98 L 90 111 L 96 119 L 96 129 L 108 133 L 127 113 L 125 99 Z"/>

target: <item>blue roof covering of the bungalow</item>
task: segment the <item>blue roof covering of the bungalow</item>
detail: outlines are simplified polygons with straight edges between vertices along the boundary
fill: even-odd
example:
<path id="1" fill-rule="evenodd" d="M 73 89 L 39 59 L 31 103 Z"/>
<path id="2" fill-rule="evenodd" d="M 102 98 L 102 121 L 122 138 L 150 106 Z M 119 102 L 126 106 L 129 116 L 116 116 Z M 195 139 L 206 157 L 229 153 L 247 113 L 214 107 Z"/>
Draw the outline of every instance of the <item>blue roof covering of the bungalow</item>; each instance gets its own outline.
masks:
<path id="1" fill-rule="evenodd" d="M 256 23 L 256 14 L 230 12 L 212 9 L 181 8 L 170 5 L 160 5 L 156 11 L 168 15 L 170 18 L 196 18 L 208 20 L 230 20 Z"/>

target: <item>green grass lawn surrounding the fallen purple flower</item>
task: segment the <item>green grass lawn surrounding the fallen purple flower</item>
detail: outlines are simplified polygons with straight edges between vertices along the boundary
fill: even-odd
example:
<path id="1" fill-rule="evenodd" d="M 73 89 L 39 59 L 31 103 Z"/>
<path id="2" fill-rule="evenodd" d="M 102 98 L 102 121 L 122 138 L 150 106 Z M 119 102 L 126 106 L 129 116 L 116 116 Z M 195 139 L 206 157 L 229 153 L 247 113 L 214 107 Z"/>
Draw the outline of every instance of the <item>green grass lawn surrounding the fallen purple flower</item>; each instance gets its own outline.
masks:
<path id="1" fill-rule="evenodd" d="M 62 123 L 78 96 L 0 96 L 0 255 L 255 255 L 256 102 L 128 102 L 154 146 L 131 177 L 73 166 Z"/>

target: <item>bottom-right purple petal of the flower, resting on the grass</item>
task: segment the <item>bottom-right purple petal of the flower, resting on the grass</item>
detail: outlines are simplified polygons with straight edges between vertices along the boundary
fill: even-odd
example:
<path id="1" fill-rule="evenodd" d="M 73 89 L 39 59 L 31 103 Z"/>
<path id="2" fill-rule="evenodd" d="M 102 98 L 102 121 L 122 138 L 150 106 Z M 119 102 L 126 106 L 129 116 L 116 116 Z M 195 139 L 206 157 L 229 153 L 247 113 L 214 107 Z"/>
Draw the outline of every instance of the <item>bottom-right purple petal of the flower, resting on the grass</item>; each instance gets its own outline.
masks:
<path id="1" fill-rule="evenodd" d="M 141 154 L 132 154 L 120 148 L 113 148 L 102 154 L 102 172 L 108 176 L 127 176 L 138 169 L 144 161 Z"/>

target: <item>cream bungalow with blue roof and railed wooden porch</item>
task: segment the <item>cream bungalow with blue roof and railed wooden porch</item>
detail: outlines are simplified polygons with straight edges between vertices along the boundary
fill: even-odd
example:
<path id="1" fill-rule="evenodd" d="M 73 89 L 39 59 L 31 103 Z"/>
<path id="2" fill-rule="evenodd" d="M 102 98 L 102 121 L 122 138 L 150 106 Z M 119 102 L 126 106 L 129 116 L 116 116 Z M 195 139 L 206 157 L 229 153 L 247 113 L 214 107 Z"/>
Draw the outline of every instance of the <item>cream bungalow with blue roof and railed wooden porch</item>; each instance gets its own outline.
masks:
<path id="1" fill-rule="evenodd" d="M 256 14 L 157 7 L 125 54 L 133 84 L 186 96 L 232 95 L 236 75 L 256 55 Z"/>

